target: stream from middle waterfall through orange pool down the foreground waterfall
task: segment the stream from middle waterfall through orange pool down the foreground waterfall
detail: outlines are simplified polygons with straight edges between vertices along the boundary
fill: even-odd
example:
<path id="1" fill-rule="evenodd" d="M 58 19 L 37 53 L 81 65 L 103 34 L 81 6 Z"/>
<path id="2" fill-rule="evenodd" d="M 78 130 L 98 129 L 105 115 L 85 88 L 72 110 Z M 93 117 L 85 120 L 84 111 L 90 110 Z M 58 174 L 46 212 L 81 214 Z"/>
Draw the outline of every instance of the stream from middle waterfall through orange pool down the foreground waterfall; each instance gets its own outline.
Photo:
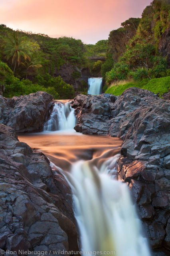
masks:
<path id="1" fill-rule="evenodd" d="M 59 113 L 56 122 L 55 112 Z M 69 182 L 80 233 L 79 247 L 86 252 L 83 254 L 150 256 L 129 189 L 117 180 L 122 141 L 65 130 L 71 128 L 72 113 L 70 105 L 57 102 L 51 113 L 53 120 L 47 121 L 45 130 L 58 131 L 21 134 L 18 138 L 41 150 Z"/>

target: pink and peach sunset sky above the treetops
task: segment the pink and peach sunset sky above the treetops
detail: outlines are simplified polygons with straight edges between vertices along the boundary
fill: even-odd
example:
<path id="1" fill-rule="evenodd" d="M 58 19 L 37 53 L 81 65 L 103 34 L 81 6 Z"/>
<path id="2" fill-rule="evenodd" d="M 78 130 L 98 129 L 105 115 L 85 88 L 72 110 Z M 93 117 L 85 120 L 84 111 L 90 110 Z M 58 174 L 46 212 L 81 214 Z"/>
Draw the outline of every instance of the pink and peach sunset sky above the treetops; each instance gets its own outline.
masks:
<path id="1" fill-rule="evenodd" d="M 107 39 L 151 0 L 0 0 L 0 24 L 16 30 L 72 36 L 85 44 Z"/>

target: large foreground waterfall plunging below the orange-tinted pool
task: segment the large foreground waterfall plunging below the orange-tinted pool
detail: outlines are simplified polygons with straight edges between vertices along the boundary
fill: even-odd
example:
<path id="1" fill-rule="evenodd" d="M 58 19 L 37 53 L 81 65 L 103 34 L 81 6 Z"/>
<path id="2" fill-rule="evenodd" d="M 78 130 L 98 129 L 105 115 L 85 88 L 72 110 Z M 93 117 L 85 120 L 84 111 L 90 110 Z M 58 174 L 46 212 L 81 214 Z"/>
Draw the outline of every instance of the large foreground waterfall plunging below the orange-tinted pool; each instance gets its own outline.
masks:
<path id="1" fill-rule="evenodd" d="M 93 160 L 79 161 L 66 174 L 73 192 L 80 250 L 87 255 L 99 251 L 103 255 L 150 256 L 127 184 L 114 180 L 117 158 L 107 159 L 99 168 Z"/>

